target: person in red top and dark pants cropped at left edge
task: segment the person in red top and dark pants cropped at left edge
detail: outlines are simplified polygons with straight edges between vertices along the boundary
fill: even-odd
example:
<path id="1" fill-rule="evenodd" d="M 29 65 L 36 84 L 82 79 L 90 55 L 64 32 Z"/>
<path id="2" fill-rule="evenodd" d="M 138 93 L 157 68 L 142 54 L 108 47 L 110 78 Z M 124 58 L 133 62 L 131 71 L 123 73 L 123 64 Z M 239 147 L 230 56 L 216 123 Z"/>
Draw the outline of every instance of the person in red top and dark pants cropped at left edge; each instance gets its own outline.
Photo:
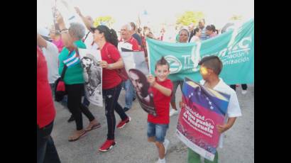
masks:
<path id="1" fill-rule="evenodd" d="M 50 136 L 55 119 L 52 91 L 48 84 L 48 66 L 43 52 L 37 47 L 36 122 L 38 162 L 60 162 L 53 138 Z"/>

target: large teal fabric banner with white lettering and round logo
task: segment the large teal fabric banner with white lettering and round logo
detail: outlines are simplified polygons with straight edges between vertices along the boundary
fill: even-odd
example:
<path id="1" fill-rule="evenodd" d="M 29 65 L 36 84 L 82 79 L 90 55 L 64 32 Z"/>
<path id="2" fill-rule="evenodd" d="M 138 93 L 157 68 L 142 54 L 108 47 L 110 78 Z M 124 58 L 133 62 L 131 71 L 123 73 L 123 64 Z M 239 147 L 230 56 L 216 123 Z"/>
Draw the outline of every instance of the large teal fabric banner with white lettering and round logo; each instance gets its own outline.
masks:
<path id="1" fill-rule="evenodd" d="M 170 63 L 169 79 L 194 81 L 202 79 L 198 62 L 203 57 L 216 55 L 224 67 L 219 75 L 226 84 L 251 84 L 254 79 L 254 24 L 253 19 L 242 26 L 201 43 L 165 43 L 146 38 L 150 72 L 155 62 L 165 57 Z"/>

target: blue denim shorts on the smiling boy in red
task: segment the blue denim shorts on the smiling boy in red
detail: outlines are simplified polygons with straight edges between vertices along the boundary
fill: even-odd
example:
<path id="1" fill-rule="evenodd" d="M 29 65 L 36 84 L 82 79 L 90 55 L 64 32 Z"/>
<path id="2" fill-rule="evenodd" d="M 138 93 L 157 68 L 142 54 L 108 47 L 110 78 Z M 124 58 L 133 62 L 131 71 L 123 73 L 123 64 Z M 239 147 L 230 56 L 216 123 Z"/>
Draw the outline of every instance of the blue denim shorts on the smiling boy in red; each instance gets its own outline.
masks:
<path id="1" fill-rule="evenodd" d="M 155 124 L 148 122 L 148 137 L 155 137 L 155 141 L 164 142 L 169 124 Z"/>

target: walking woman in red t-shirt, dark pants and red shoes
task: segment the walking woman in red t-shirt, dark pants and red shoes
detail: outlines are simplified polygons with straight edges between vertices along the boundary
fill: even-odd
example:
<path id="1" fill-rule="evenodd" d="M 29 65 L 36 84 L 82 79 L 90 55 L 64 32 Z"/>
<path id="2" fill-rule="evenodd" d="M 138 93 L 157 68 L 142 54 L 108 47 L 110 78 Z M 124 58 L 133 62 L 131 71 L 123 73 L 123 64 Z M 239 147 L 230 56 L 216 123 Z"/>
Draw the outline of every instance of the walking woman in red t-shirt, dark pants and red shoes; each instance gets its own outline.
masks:
<path id="1" fill-rule="evenodd" d="M 115 145 L 114 130 L 116 120 L 114 110 L 119 114 L 121 121 L 116 128 L 123 128 L 131 118 L 126 115 L 123 108 L 118 103 L 121 91 L 121 77 L 119 77 L 117 69 L 123 67 L 123 61 L 117 49 L 118 40 L 115 30 L 109 29 L 107 26 L 97 26 L 92 28 L 94 31 L 94 42 L 99 45 L 101 51 L 100 66 L 103 67 L 102 73 L 102 93 L 105 97 L 105 114 L 107 119 L 108 133 L 107 139 L 99 150 L 106 152 Z"/>

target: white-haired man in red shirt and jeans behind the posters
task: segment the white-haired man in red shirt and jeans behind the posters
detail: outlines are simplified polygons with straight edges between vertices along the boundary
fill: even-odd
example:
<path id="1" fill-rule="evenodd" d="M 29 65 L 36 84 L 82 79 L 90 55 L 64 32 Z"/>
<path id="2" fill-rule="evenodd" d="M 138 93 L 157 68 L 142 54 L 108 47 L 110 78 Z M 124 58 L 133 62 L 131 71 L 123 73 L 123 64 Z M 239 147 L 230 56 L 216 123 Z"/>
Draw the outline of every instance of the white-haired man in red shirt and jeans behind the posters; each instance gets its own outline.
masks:
<path id="1" fill-rule="evenodd" d="M 132 51 L 139 51 L 138 41 L 133 38 L 132 36 L 132 27 L 131 24 L 127 23 L 121 27 L 121 39 L 122 41 L 119 42 L 119 51 L 120 52 L 132 52 Z M 123 108 L 124 111 L 128 111 L 131 109 L 132 101 L 134 98 L 134 89 L 133 84 L 131 84 L 131 80 L 127 79 L 123 81 L 123 88 L 126 90 L 126 101 L 125 106 Z"/>

